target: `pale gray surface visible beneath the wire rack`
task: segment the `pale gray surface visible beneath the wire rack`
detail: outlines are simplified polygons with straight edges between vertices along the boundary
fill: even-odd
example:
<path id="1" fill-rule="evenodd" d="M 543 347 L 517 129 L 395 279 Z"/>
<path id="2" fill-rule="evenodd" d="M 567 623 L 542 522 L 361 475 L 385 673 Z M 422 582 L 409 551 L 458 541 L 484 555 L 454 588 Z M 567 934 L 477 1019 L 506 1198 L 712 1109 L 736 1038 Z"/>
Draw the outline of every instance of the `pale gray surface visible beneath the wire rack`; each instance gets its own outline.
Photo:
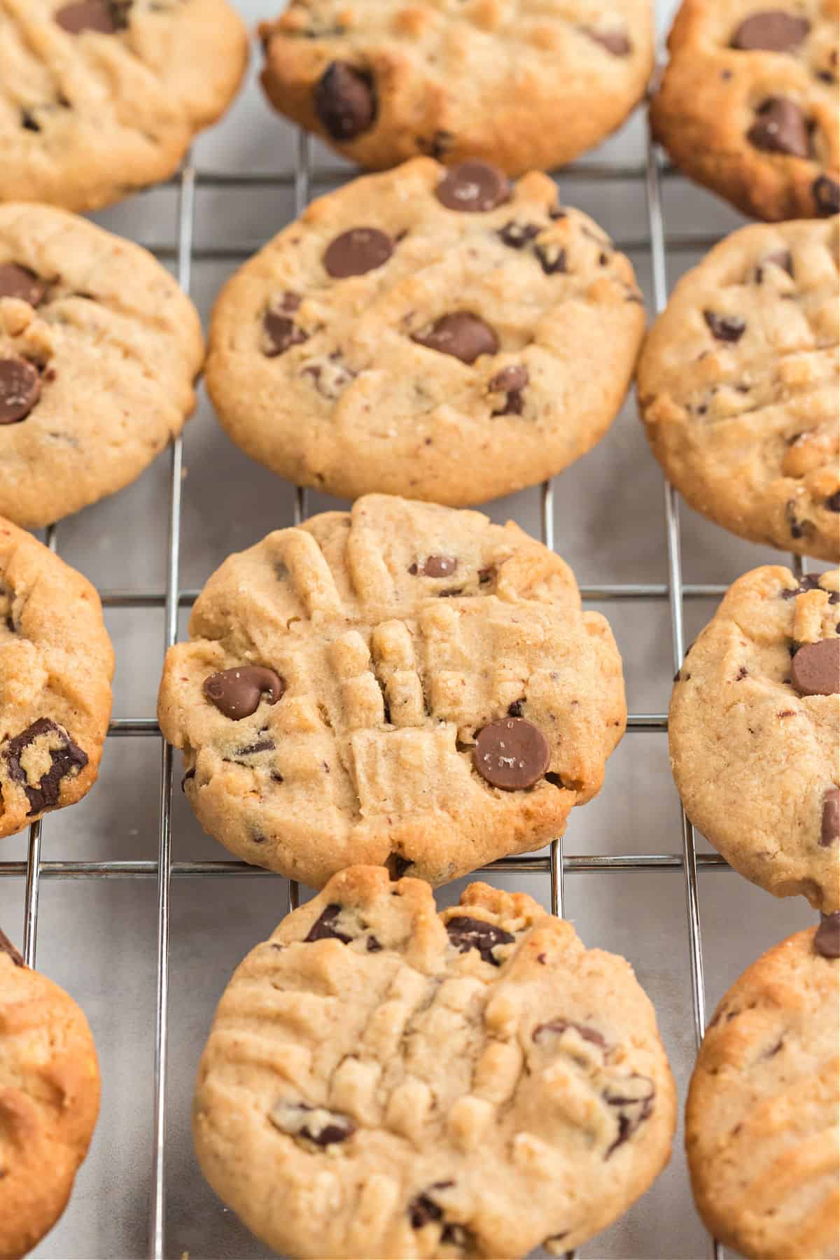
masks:
<path id="1" fill-rule="evenodd" d="M 249 21 L 271 15 L 271 0 L 239 0 Z M 670 11 L 670 5 L 666 6 Z M 660 14 L 665 29 L 667 13 Z M 270 111 L 256 84 L 254 55 L 248 86 L 229 115 L 195 147 L 200 169 L 277 171 L 290 169 L 295 135 Z M 640 113 L 594 155 L 596 160 L 641 161 Z M 316 146 L 316 161 L 340 165 Z M 587 210 L 618 238 L 647 233 L 641 181 L 578 183 L 559 175 L 563 200 Z M 724 234 L 739 215 L 683 180 L 666 181 L 671 232 Z M 196 244 L 253 242 L 271 237 L 291 215 L 291 193 L 203 190 Z M 144 243 L 174 241 L 176 204 L 171 189 L 137 195 L 96 215 L 105 226 Z M 650 255 L 632 253 L 652 310 Z M 669 282 L 696 261 L 670 255 Z M 233 265 L 198 261 L 193 296 L 207 319 L 213 296 Z M 232 551 L 248 547 L 292 520 L 292 489 L 251 462 L 223 435 L 201 396 L 185 436 L 183 553 L 180 581 L 200 586 Z M 169 459 L 164 456 L 122 494 L 62 523 L 62 554 L 98 586 L 162 590 L 165 585 Z M 582 583 L 662 582 L 666 552 L 662 483 L 630 398 L 604 441 L 557 479 L 557 548 Z M 310 512 L 335 505 L 310 495 Z M 539 491 L 489 504 L 496 520 L 514 517 L 539 536 Z M 776 552 L 741 542 L 683 509 L 685 578 L 729 582 Z M 713 602 L 686 605 L 686 641 L 705 624 Z M 604 611 L 625 660 L 628 708 L 661 712 L 671 687 L 667 605 L 621 602 Z M 160 610 L 110 610 L 117 654 L 115 716 L 154 713 L 162 656 Z M 181 624 L 184 633 L 184 622 Z M 180 760 L 180 759 L 176 759 Z M 43 857 L 127 859 L 157 854 L 160 745 L 157 740 L 111 740 L 96 789 L 73 809 L 48 818 Z M 178 770 L 176 770 L 178 772 Z M 204 837 L 175 791 L 174 857 L 227 857 Z M 662 733 L 631 733 L 607 767 L 601 796 L 573 813 L 568 853 L 678 852 L 680 815 Z M 704 849 L 704 842 L 700 842 Z M 3 842 L 3 858 L 26 853 L 21 834 Z M 513 885 L 508 877 L 495 876 Z M 440 895 L 448 902 L 460 885 Z M 547 881 L 521 878 L 518 887 L 545 901 Z M 567 915 L 587 945 L 626 955 L 656 1005 L 680 1099 L 694 1058 L 684 885 L 679 871 L 635 874 L 570 874 Z M 23 931 L 23 879 L 0 879 L 0 922 L 18 941 Z M 700 876 L 703 941 L 709 1011 L 762 950 L 807 926 L 803 901 L 776 901 L 732 872 Z M 280 878 L 194 879 L 173 883 L 171 1038 L 167 1094 L 167 1255 L 193 1260 L 264 1255 L 233 1213 L 203 1182 L 193 1155 L 189 1111 L 193 1079 L 215 1003 L 251 946 L 271 931 L 286 906 Z M 154 879 L 44 881 L 38 965 L 65 985 L 91 1021 L 101 1057 L 102 1115 L 72 1203 L 35 1255 L 43 1257 L 135 1257 L 147 1254 L 151 1189 L 152 1062 L 155 1028 L 156 887 Z M 691 1203 L 681 1133 L 666 1172 L 612 1228 L 581 1251 L 587 1257 L 700 1257 L 708 1240 Z"/>

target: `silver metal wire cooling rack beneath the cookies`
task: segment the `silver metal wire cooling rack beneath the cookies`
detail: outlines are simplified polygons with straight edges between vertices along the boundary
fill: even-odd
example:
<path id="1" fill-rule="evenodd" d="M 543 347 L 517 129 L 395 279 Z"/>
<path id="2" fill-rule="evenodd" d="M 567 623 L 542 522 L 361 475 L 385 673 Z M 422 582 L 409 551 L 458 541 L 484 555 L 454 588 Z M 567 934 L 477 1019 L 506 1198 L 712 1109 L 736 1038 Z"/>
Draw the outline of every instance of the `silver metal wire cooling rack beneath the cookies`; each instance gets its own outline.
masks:
<path id="1" fill-rule="evenodd" d="M 688 236 L 669 233 L 662 210 L 662 179 L 675 174 L 662 161 L 661 151 L 651 140 L 647 142 L 644 165 L 586 164 L 577 163 L 563 170 L 563 180 L 604 180 L 644 181 L 647 204 L 649 234 L 645 238 L 616 238 L 616 246 L 623 251 L 644 249 L 650 252 L 654 281 L 654 305 L 659 314 L 667 299 L 666 247 L 675 249 L 705 251 L 717 243 L 717 236 Z M 350 173 L 351 175 L 351 173 Z M 229 261 L 242 262 L 257 243 L 237 247 L 194 244 L 195 194 L 198 188 L 236 188 L 241 190 L 256 188 L 292 188 L 295 194 L 295 213 L 304 212 L 310 200 L 312 184 L 338 184 L 350 178 L 335 170 L 314 170 L 311 141 L 305 132 L 298 132 L 297 154 L 292 171 L 271 174 L 228 174 L 223 171 L 201 171 L 188 158 L 179 175 L 173 181 L 178 188 L 178 223 L 174 243 L 156 242 L 147 247 L 161 260 L 175 261 L 178 280 L 181 289 L 189 294 L 193 262 Z M 166 588 L 164 591 L 99 591 L 105 607 L 121 609 L 162 609 L 164 645 L 170 648 L 178 638 L 179 609 L 195 602 L 198 591 L 181 590 L 179 586 L 180 564 L 180 524 L 181 524 L 181 486 L 183 486 L 183 444 L 176 438 L 169 452 L 169 539 L 166 553 Z M 667 544 L 667 571 L 661 583 L 612 583 L 601 586 L 581 586 L 584 601 L 602 602 L 616 600 L 667 601 L 671 624 L 671 648 L 674 669 L 679 669 L 684 655 L 683 610 L 684 601 L 693 598 L 720 597 L 727 590 L 718 585 L 689 585 L 683 581 L 680 559 L 680 519 L 678 494 L 665 483 L 664 524 Z M 545 481 L 539 488 L 542 537 L 547 547 L 554 549 L 554 488 Z M 293 520 L 298 524 L 306 515 L 306 490 L 297 486 L 295 493 Z M 47 546 L 58 551 L 58 532 L 52 525 L 45 532 Z M 795 556 L 793 571 L 805 571 L 801 557 Z M 639 731 L 667 731 L 666 713 L 630 713 L 627 733 Z M 149 736 L 161 738 L 156 717 L 116 717 L 108 728 L 110 737 Z M 166 1056 L 169 1045 L 169 942 L 170 942 L 170 887 L 173 877 L 270 877 L 271 873 L 259 867 L 248 866 L 233 859 L 218 862 L 174 862 L 171 849 L 171 806 L 173 806 L 173 748 L 161 741 L 160 756 L 160 830 L 156 861 L 107 861 L 107 862 L 44 862 L 42 861 L 42 834 L 44 823 L 34 823 L 29 829 L 29 848 L 25 862 L 0 862 L 0 877 L 25 877 L 24 892 L 24 958 L 30 966 L 35 965 L 38 946 L 38 898 L 42 879 L 112 879 L 112 878 L 155 878 L 157 881 L 157 993 L 155 1028 L 155 1075 L 154 1075 L 154 1139 L 152 1139 L 152 1191 L 149 1225 L 150 1260 L 164 1260 L 165 1250 L 165 1207 L 166 1207 Z M 54 823 L 50 820 L 50 825 Z M 676 852 L 669 853 L 620 853 L 620 854 L 570 854 L 565 853 L 563 840 L 557 839 L 549 845 L 548 853 L 526 857 L 502 858 L 485 867 L 485 871 L 504 871 L 508 873 L 538 872 L 548 876 L 550 885 L 550 907 L 555 915 L 563 915 L 563 881 L 567 872 L 593 871 L 655 871 L 667 869 L 681 872 L 685 891 L 685 911 L 688 919 L 689 964 L 691 974 L 691 998 L 694 1016 L 694 1034 L 699 1047 L 705 1028 L 705 992 L 703 980 L 703 944 L 700 935 L 700 908 L 698 892 L 698 872 L 725 868 L 727 863 L 718 854 L 698 854 L 695 850 L 694 828 L 681 813 L 680 844 Z M 273 876 L 273 878 L 277 878 Z M 298 903 L 298 888 L 288 883 L 288 906 Z M 709 1241 L 709 1252 L 719 1260 L 719 1244 Z M 569 1252 L 569 1256 L 572 1252 Z"/>

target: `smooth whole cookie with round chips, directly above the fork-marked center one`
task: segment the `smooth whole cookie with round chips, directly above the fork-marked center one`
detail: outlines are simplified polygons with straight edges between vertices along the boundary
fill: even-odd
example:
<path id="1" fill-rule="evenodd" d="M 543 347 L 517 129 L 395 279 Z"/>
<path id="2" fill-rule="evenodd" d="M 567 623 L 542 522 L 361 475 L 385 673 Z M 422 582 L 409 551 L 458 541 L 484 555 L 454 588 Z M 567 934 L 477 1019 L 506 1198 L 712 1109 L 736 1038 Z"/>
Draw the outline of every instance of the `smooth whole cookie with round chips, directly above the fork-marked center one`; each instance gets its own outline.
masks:
<path id="1" fill-rule="evenodd" d="M 644 328 L 628 260 L 548 176 L 418 158 L 314 202 L 228 281 L 207 383 L 281 476 L 460 507 L 589 450 Z"/>

